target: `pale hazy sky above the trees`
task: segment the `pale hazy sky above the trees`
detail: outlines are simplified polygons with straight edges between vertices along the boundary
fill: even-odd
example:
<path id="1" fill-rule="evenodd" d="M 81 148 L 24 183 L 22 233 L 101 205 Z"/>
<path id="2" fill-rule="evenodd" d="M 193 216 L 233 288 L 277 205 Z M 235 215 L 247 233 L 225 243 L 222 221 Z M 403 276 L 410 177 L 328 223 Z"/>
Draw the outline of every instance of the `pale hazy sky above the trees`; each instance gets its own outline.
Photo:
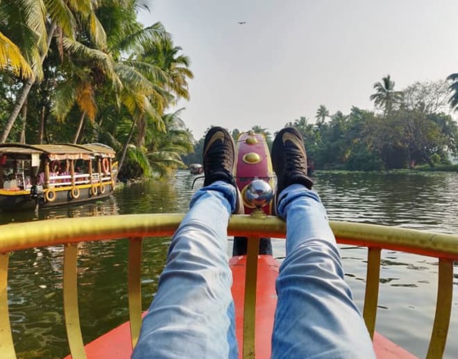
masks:
<path id="1" fill-rule="evenodd" d="M 182 119 L 196 139 L 210 125 L 280 130 L 326 105 L 373 109 L 374 82 L 396 89 L 458 72 L 457 0 L 152 0 L 191 58 Z M 237 21 L 246 21 L 239 25 Z"/>

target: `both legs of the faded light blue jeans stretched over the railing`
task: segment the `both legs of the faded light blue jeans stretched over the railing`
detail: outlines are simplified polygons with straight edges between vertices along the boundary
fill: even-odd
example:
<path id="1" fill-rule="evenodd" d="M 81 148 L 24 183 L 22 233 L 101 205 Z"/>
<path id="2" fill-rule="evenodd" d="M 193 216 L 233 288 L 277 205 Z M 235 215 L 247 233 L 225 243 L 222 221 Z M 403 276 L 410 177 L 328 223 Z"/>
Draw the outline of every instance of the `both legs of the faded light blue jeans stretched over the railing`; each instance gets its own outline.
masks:
<path id="1" fill-rule="evenodd" d="M 237 358 L 227 258 L 235 198 L 225 182 L 194 194 L 133 358 Z M 278 213 L 287 220 L 287 257 L 276 283 L 272 358 L 375 358 L 319 196 L 291 185 L 280 193 Z"/>

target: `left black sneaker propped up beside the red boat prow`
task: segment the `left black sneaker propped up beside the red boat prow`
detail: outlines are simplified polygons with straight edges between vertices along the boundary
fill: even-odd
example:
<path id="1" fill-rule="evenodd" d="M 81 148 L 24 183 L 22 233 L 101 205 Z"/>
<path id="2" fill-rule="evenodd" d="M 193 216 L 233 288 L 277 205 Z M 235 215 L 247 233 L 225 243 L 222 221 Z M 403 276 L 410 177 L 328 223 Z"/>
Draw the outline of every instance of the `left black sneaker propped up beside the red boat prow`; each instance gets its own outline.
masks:
<path id="1" fill-rule="evenodd" d="M 237 204 L 233 213 L 244 213 L 240 191 L 234 179 L 235 143 L 228 131 L 221 127 L 210 128 L 203 142 L 204 186 L 224 181 L 237 189 Z"/>

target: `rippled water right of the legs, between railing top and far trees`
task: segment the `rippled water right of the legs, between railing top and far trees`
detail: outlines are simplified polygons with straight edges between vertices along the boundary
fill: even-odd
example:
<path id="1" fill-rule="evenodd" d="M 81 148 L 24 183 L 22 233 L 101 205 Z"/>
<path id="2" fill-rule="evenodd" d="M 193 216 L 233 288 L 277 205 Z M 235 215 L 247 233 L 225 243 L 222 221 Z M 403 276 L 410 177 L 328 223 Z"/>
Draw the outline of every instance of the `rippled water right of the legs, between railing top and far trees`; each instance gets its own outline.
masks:
<path id="1" fill-rule="evenodd" d="M 456 173 L 321 173 L 315 189 L 334 220 L 457 232 Z"/>

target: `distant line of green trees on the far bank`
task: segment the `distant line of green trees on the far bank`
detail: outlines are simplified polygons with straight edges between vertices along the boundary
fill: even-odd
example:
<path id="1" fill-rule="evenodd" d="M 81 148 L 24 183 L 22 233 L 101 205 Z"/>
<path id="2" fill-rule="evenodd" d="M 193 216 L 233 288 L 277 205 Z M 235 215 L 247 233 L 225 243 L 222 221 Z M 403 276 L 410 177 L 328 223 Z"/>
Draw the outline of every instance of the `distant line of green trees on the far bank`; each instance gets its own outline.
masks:
<path id="1" fill-rule="evenodd" d="M 389 170 L 418 164 L 450 164 L 458 155 L 458 127 L 450 116 L 458 109 L 458 73 L 447 80 L 416 82 L 396 91 L 391 76 L 373 85 L 370 96 L 375 111 L 353 106 L 348 114 L 330 114 L 325 105 L 316 110 L 315 121 L 305 116 L 289 121 L 303 135 L 307 156 L 316 169 Z M 271 134 L 259 125 L 251 128 Z M 240 131 L 232 130 L 237 139 Z M 203 139 L 185 161 L 200 162 Z M 270 146 L 269 146 L 270 148 Z"/>

